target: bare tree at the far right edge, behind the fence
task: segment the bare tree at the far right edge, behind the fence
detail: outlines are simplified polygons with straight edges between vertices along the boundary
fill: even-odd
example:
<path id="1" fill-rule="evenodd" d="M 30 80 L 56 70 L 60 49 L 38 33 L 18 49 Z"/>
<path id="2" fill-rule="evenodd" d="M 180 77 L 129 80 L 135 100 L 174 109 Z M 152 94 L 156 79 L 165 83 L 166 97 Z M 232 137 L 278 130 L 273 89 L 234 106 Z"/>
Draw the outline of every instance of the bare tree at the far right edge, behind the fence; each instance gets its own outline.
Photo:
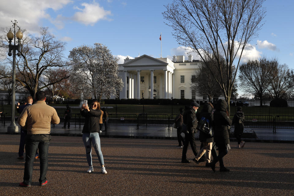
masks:
<path id="1" fill-rule="evenodd" d="M 273 72 L 272 77 L 268 92 L 274 99 L 286 97 L 287 93 L 292 90 L 294 86 L 288 66 L 286 64 L 279 64 L 277 66 L 277 71 Z"/>

